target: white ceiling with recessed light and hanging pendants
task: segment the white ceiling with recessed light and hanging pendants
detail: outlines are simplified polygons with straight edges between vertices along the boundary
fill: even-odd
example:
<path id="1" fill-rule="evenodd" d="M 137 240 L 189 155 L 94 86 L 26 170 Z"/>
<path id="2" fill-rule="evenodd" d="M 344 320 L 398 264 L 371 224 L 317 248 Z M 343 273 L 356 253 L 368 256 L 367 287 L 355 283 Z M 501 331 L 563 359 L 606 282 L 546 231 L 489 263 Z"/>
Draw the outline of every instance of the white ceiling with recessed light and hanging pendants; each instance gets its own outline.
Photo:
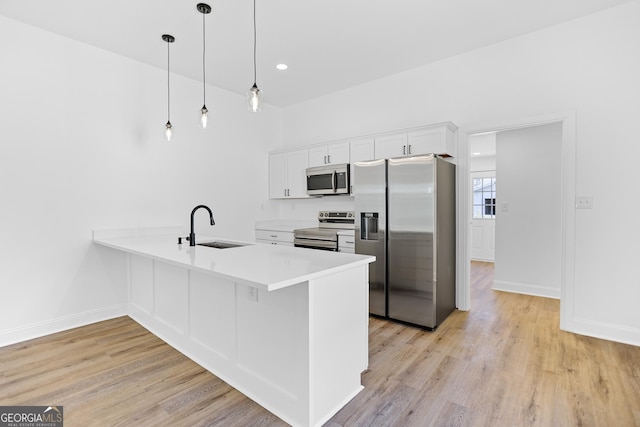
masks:
<path id="1" fill-rule="evenodd" d="M 257 82 L 266 103 L 287 107 L 628 1 L 257 0 Z M 244 95 L 253 2 L 205 2 L 206 81 Z M 197 3 L 2 0 L 0 14 L 162 69 L 171 34 L 171 71 L 201 81 Z"/>

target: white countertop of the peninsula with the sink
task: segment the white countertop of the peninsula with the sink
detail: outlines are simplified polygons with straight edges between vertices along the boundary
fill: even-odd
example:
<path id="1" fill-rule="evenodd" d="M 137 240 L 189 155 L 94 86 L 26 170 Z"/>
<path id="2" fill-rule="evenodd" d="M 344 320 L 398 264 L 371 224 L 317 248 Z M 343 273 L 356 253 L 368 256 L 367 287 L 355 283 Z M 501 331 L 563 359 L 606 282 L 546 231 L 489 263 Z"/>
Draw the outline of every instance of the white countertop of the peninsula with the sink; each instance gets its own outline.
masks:
<path id="1" fill-rule="evenodd" d="M 247 246 L 215 249 L 177 244 L 180 234 L 94 232 L 99 245 L 157 259 L 185 268 L 242 281 L 259 289 L 274 291 L 333 272 L 368 264 L 375 257 L 281 245 L 253 243 Z M 196 242 L 229 241 L 196 236 Z"/>

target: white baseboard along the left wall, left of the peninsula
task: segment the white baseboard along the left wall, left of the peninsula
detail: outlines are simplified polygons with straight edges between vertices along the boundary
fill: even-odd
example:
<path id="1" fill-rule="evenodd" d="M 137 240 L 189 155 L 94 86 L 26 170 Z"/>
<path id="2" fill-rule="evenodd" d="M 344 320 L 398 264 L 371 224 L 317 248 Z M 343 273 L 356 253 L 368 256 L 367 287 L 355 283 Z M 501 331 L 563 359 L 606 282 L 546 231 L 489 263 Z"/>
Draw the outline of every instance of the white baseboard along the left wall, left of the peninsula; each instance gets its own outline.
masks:
<path id="1" fill-rule="evenodd" d="M 125 316 L 126 314 L 127 305 L 117 304 L 111 307 L 85 311 L 84 313 L 58 317 L 45 322 L 33 323 L 19 328 L 6 329 L 0 331 L 0 347 L 90 325 L 91 323 L 101 322 L 103 320 Z"/>

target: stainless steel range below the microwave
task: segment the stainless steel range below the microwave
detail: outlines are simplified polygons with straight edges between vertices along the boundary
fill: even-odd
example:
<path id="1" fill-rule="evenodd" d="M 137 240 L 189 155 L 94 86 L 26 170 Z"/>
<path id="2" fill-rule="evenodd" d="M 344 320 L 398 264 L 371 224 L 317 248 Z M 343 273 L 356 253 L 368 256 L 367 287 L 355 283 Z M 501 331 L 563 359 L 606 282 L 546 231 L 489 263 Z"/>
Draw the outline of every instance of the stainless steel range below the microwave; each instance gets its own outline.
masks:
<path id="1" fill-rule="evenodd" d="M 353 211 L 318 212 L 318 227 L 293 231 L 293 244 L 299 248 L 338 250 L 338 231 L 353 230 Z"/>

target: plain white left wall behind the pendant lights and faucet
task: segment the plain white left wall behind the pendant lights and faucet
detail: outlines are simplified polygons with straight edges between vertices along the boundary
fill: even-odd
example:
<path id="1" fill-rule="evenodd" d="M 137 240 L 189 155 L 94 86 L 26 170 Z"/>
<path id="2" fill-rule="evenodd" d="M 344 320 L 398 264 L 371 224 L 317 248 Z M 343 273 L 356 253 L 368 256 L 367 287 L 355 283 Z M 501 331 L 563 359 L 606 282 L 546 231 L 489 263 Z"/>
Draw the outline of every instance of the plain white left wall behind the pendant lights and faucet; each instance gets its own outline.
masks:
<path id="1" fill-rule="evenodd" d="M 124 313 L 121 255 L 94 228 L 188 226 L 253 240 L 281 111 L 0 17 L 0 345 Z M 166 45 L 158 37 L 158 54 Z M 247 173 L 249 171 L 249 173 Z M 262 210 L 264 208 L 264 210 Z M 120 263 L 118 263 L 120 261 Z"/>

